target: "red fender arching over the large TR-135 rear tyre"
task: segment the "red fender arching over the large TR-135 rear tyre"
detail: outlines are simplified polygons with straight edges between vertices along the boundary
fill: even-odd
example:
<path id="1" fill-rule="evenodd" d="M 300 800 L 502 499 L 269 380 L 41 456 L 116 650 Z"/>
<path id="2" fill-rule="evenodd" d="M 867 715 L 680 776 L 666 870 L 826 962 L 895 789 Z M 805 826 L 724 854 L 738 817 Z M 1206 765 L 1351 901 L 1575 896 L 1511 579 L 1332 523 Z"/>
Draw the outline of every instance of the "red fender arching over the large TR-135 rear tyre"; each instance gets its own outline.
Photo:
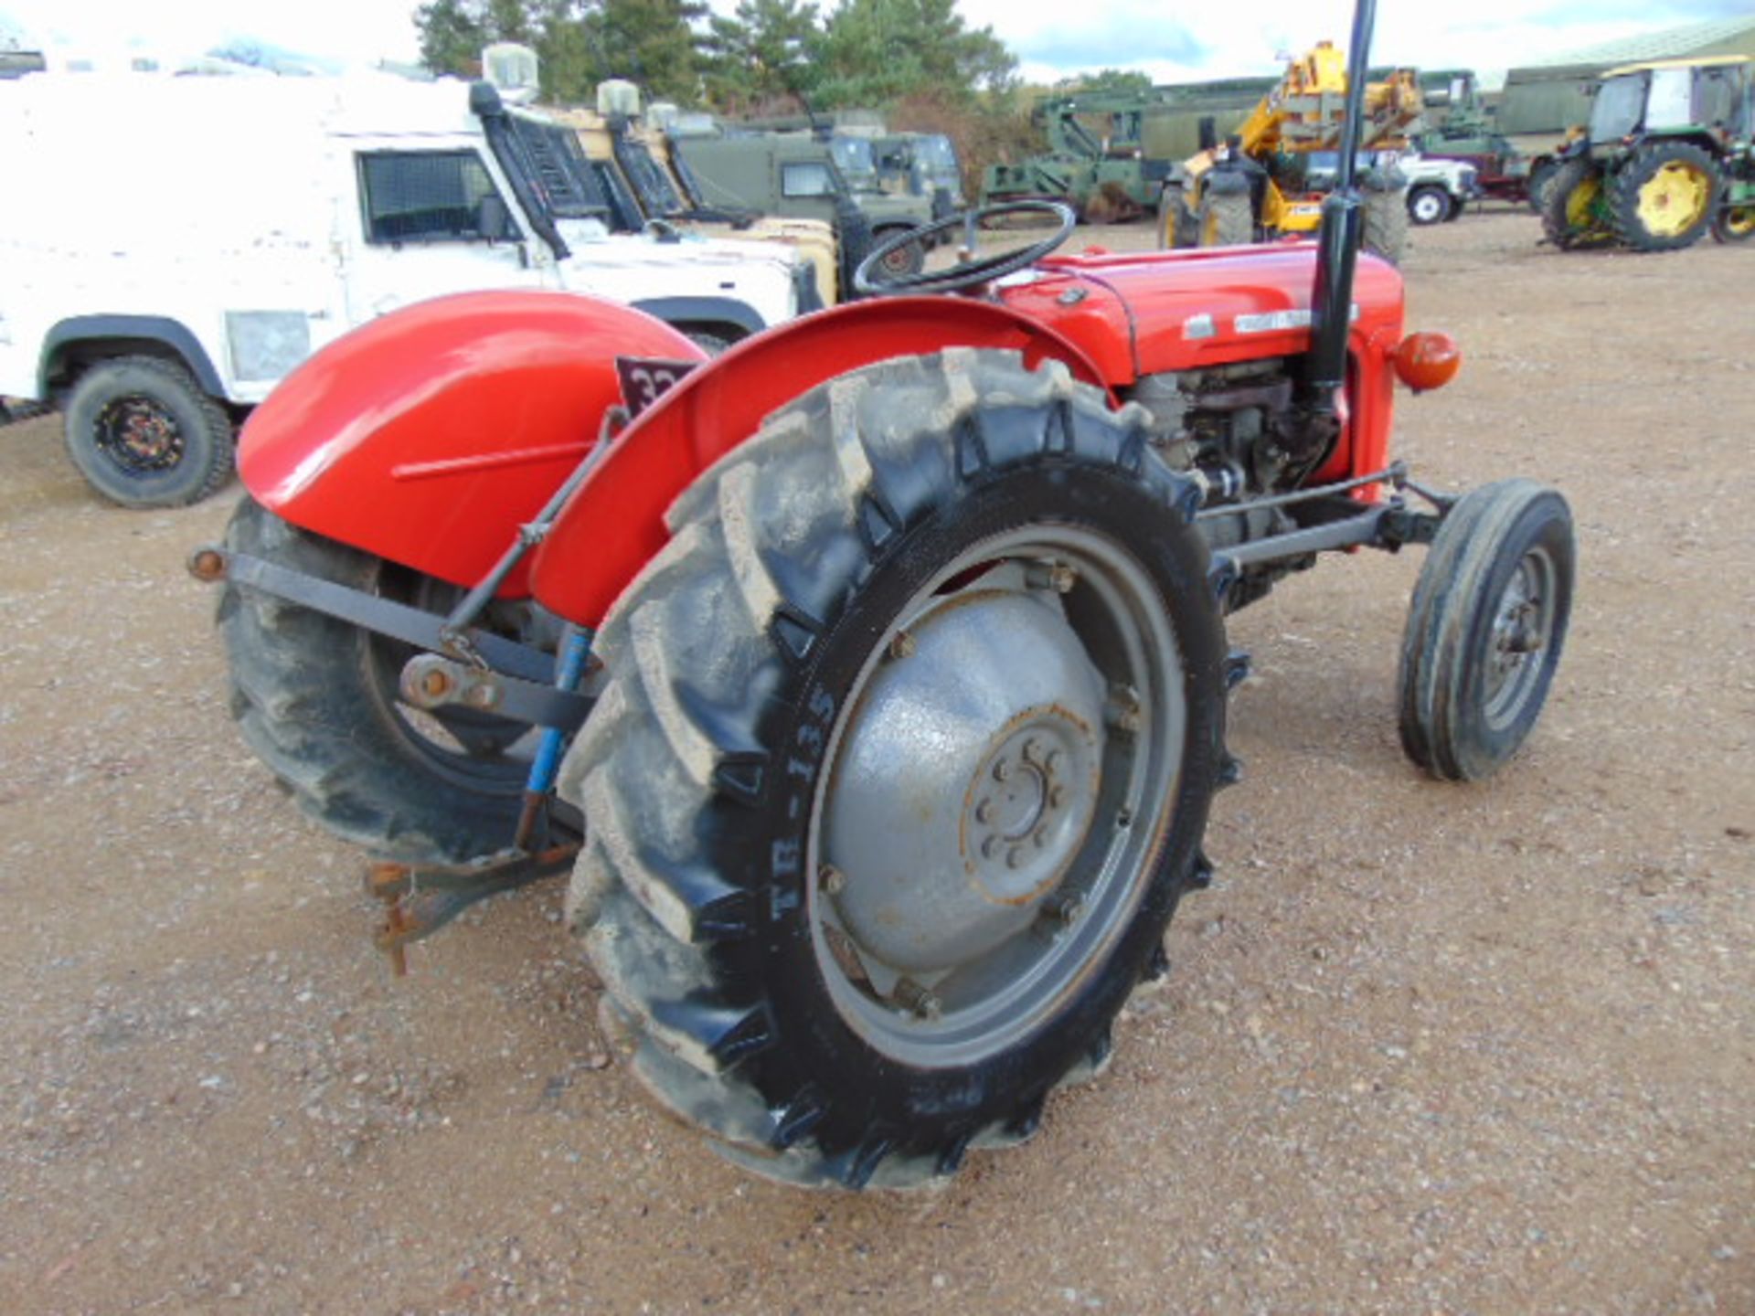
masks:
<path id="1" fill-rule="evenodd" d="M 1104 388 L 1069 339 L 990 302 L 897 297 L 795 319 L 695 370 L 616 439 L 542 542 L 532 591 L 569 621 L 598 625 L 670 539 L 665 509 L 769 412 L 862 365 L 944 347 L 1020 351 L 1028 365 L 1057 358 Z"/>

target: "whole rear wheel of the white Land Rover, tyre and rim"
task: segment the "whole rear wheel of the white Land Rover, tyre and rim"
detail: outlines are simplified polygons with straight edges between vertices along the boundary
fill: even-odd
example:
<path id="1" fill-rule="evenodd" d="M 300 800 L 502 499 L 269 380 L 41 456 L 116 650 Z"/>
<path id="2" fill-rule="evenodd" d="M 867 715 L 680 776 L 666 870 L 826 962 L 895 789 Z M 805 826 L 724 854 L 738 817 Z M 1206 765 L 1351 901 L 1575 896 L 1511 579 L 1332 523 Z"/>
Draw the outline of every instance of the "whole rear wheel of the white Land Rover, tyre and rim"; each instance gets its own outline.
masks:
<path id="1" fill-rule="evenodd" d="M 176 361 L 118 356 L 74 384 L 67 453 L 121 507 L 184 507 L 232 476 L 232 418 Z"/>

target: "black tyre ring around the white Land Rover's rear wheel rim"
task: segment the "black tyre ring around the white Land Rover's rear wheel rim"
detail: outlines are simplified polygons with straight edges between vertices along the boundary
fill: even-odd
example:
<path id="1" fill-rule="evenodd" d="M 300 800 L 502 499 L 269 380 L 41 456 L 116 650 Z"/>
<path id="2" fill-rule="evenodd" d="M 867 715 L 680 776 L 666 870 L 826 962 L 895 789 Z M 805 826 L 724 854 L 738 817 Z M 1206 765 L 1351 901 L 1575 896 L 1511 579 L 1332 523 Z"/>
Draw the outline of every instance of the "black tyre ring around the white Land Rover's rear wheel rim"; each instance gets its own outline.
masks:
<path id="1" fill-rule="evenodd" d="M 193 381 L 176 367 L 140 361 L 105 361 L 91 367 L 67 402 L 67 451 L 79 474 L 105 498 L 123 507 L 181 507 L 200 498 L 221 461 L 230 433 L 214 433 L 212 416 Z M 98 446 L 98 418 L 123 397 L 142 395 L 163 407 L 183 437 L 174 467 L 149 476 L 121 470 Z M 226 454 L 228 456 L 228 454 Z"/>

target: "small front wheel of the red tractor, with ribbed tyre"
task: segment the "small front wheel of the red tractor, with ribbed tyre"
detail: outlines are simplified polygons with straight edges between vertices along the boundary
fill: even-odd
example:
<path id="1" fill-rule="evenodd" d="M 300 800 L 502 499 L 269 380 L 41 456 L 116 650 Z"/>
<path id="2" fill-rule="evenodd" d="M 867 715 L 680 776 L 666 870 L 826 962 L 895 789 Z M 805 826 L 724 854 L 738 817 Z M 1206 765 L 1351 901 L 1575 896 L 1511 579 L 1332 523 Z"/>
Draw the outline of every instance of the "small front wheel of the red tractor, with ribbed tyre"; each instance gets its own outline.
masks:
<path id="1" fill-rule="evenodd" d="M 1527 479 L 1485 484 L 1444 518 L 1408 611 L 1400 733 L 1446 781 L 1478 781 L 1541 716 L 1572 611 L 1572 514 Z"/>

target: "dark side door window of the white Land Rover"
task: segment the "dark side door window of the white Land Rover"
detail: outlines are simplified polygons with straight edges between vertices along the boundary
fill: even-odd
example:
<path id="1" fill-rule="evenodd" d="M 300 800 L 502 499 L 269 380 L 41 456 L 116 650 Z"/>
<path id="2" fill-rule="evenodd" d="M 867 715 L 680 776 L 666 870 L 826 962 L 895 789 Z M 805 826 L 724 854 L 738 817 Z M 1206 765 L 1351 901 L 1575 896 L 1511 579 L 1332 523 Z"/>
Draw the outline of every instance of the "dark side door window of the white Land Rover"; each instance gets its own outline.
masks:
<path id="1" fill-rule="evenodd" d="M 516 240 L 505 202 L 474 151 L 372 151 L 360 154 L 369 242 Z M 488 198 L 498 207 L 483 207 Z M 484 232 L 483 221 L 493 225 Z"/>

